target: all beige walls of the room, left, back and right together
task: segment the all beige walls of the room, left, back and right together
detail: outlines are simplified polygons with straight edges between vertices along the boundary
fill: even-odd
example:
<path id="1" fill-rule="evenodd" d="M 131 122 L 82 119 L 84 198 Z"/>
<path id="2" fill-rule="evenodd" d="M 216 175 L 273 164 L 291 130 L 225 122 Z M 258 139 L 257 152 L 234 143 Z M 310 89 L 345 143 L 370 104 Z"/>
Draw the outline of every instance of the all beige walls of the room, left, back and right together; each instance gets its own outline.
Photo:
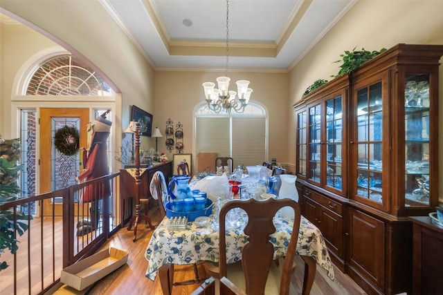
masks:
<path id="1" fill-rule="evenodd" d="M 114 90 L 121 93 L 115 126 L 126 128 L 129 106 L 135 104 L 154 115 L 154 126 L 159 126 L 163 133 L 168 118 L 180 121 L 185 128 L 185 152 L 192 152 L 192 111 L 203 99 L 201 83 L 214 81 L 224 73 L 154 71 L 99 1 L 83 1 L 82 6 L 78 6 L 75 1 L 2 0 L 0 6 L 26 19 L 35 28 L 41 28 L 42 32 L 48 32 L 47 36 L 57 37 L 61 41 L 57 43 L 83 56 L 107 77 Z M 339 59 L 344 50 L 379 50 L 398 43 L 443 44 L 442 11 L 443 1 L 360 0 L 289 74 L 230 73 L 233 81 L 249 79 L 254 89 L 253 100 L 269 111 L 269 158 L 294 162 L 295 118 L 291 104 L 298 101 L 305 88 L 316 79 L 332 79 L 330 76 L 338 72 L 338 64 L 333 61 Z M 54 15 L 63 21 L 57 21 Z M 37 35 L 29 37 L 33 33 L 26 28 L 5 30 L 5 27 L 0 28 L 0 133 L 7 137 L 12 79 L 23 61 L 37 50 L 54 44 Z M 443 82 L 440 93 L 443 97 Z M 440 110 L 443 113 L 443 104 Z M 439 124 L 443 130 L 443 120 Z M 147 148 L 155 144 L 154 138 L 142 137 L 142 140 Z M 440 149 L 443 149 L 443 137 L 440 137 Z M 159 140 L 159 150 L 165 151 L 164 139 Z M 172 154 L 167 154 L 172 158 Z M 443 157 L 440 162 L 443 164 Z M 440 180 L 443 184 L 443 173 Z"/>

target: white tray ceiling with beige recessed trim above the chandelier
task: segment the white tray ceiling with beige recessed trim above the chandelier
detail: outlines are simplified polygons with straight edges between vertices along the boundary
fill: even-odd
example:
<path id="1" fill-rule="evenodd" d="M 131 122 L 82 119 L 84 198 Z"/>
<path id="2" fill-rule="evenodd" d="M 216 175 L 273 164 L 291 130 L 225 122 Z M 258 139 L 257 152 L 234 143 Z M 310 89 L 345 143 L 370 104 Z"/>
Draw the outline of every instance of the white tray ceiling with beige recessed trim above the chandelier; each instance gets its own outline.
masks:
<path id="1" fill-rule="evenodd" d="M 229 70 L 291 69 L 356 1 L 230 0 Z M 226 69 L 226 0 L 101 3 L 154 68 Z"/>

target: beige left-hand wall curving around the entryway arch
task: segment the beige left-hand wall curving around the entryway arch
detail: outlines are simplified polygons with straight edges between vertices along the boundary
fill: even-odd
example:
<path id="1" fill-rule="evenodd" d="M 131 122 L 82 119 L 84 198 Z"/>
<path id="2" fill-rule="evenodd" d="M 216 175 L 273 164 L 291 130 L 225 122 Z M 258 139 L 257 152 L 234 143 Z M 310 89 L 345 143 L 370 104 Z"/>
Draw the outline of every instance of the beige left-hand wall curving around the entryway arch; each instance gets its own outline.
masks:
<path id="1" fill-rule="evenodd" d="M 116 142 L 121 142 L 122 129 L 129 124 L 129 106 L 136 105 L 150 113 L 154 112 L 154 70 L 145 56 L 134 46 L 132 41 L 121 30 L 120 26 L 111 18 L 100 4 L 100 1 L 10 1 L 2 0 L 0 3 L 14 15 L 25 19 L 26 25 L 42 32 L 57 44 L 60 44 L 73 55 L 83 59 L 93 67 L 114 88 L 117 95 L 116 108 Z M 38 12 L 38 13 L 36 13 Z M 54 17 L 57 15 L 57 17 Z M 62 19 L 63 21 L 60 21 Z M 44 40 L 37 34 L 32 37 L 16 36 L 15 26 L 3 26 L 12 30 L 1 37 L 1 120 L 0 133 L 8 137 L 9 131 L 4 130 L 10 121 L 10 81 L 17 75 L 20 62 L 26 61 L 44 44 L 54 46 L 47 39 Z M 10 28 L 12 27 L 12 28 Z M 4 28 L 3 28 L 4 30 Z M 32 32 L 28 32 L 31 34 Z M 20 44 L 15 41 L 21 39 Z M 37 40 L 37 43 L 35 43 Z M 3 64 L 9 61 L 16 66 L 4 68 Z M 7 71 L 6 71 L 7 70 Z M 5 78 L 3 78 L 5 77 Z M 8 77 L 8 78 L 6 78 Z M 121 98 L 120 98 L 121 97 Z M 150 137 L 142 137 L 143 144 L 152 146 L 154 142 Z"/>

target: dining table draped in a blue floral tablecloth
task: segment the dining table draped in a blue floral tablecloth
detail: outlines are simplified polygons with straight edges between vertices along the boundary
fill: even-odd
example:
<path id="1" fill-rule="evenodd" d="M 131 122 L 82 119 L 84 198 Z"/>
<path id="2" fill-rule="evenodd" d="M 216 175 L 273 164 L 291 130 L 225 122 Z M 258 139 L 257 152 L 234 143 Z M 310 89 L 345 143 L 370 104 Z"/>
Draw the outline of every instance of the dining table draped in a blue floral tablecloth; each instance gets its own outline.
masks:
<path id="1" fill-rule="evenodd" d="M 214 212 L 209 216 L 213 218 Z M 147 245 L 145 258 L 147 269 L 145 276 L 154 280 L 159 275 L 163 294 L 170 295 L 174 265 L 190 265 L 201 261 L 218 262 L 219 258 L 219 231 L 216 227 L 197 225 L 196 222 L 187 222 L 185 229 L 171 229 L 168 227 L 168 217 L 163 218 L 152 233 Z M 275 233 L 271 235 L 274 247 L 274 259 L 284 257 L 289 245 L 292 231 L 292 221 L 277 214 L 274 218 Z M 241 260 L 242 247 L 248 241 L 243 227 L 230 228 L 226 231 L 226 259 L 227 263 Z M 309 294 L 316 275 L 316 265 L 323 267 L 327 276 L 334 280 L 334 268 L 329 257 L 325 239 L 318 227 L 305 217 L 300 217 L 300 229 L 296 246 L 296 254 L 305 261 L 305 276 L 303 280 L 303 294 Z"/>

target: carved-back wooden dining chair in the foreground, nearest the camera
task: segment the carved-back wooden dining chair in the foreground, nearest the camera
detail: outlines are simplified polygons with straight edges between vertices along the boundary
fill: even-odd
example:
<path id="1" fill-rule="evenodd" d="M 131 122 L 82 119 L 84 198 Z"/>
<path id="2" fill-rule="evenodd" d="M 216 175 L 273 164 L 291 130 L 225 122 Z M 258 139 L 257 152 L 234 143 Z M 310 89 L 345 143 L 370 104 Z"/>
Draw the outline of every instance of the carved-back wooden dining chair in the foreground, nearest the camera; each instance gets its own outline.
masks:
<path id="1" fill-rule="evenodd" d="M 273 260 L 274 247 L 271 243 L 271 234 L 275 233 L 273 218 L 282 207 L 291 207 L 296 218 L 293 220 L 291 237 L 286 256 L 283 259 L 282 268 L 278 269 Z M 248 214 L 248 223 L 244 227 L 244 234 L 249 236 L 248 242 L 242 249 L 241 267 L 239 263 L 226 263 L 226 214 L 234 208 L 240 208 Z M 232 200 L 226 202 L 220 210 L 219 231 L 219 278 L 223 278 L 224 284 L 229 286 L 244 284 L 246 294 L 264 294 L 266 281 L 268 287 L 274 287 L 275 291 L 270 294 L 289 294 L 293 262 L 296 255 L 298 231 L 300 229 L 300 206 L 289 198 L 275 200 Z M 217 274 L 215 269 L 213 272 Z M 231 273 L 232 272 L 232 273 Z M 277 282 L 271 282 L 271 280 Z M 232 283 L 230 284 L 229 283 Z M 226 284 L 227 283 L 227 284 Z M 279 287 L 278 287 L 279 286 Z M 227 293 L 235 294 L 235 293 Z"/>

